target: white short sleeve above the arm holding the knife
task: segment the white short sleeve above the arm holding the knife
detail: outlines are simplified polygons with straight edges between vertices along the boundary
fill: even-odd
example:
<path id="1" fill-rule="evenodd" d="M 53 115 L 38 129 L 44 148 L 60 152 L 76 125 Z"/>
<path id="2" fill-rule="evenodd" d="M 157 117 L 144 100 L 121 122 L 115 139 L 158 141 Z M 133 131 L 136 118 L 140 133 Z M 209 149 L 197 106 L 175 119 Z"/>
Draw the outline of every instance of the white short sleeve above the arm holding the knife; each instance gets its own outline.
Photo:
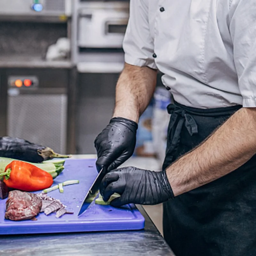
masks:
<path id="1" fill-rule="evenodd" d="M 128 64 L 156 69 L 153 58 L 154 41 L 150 35 L 148 22 L 149 1 L 130 1 L 130 18 L 123 42 L 124 58 Z"/>

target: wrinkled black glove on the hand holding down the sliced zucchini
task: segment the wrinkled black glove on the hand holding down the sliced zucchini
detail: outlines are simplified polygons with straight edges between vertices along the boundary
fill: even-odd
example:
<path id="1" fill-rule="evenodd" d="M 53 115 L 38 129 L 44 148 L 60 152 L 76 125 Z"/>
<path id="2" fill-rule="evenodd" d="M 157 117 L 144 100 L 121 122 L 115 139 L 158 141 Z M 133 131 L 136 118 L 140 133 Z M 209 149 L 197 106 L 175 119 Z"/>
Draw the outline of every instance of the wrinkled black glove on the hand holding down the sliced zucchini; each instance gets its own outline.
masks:
<path id="1" fill-rule="evenodd" d="M 121 196 L 111 201 L 115 207 L 124 204 L 160 204 L 174 197 L 166 172 L 151 172 L 124 167 L 109 172 L 100 184 L 100 194 L 108 201 L 113 193 Z"/>

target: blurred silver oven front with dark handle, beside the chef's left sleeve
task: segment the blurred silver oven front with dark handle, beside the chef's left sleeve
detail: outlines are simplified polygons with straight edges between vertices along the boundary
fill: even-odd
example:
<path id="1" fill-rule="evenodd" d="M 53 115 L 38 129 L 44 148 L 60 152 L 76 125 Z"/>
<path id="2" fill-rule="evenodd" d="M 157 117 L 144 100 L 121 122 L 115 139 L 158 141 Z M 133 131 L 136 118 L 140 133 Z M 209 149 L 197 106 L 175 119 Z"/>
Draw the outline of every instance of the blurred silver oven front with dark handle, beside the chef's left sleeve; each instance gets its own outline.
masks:
<path id="1" fill-rule="evenodd" d="M 88 3 L 78 17 L 78 47 L 122 48 L 128 3 Z"/>

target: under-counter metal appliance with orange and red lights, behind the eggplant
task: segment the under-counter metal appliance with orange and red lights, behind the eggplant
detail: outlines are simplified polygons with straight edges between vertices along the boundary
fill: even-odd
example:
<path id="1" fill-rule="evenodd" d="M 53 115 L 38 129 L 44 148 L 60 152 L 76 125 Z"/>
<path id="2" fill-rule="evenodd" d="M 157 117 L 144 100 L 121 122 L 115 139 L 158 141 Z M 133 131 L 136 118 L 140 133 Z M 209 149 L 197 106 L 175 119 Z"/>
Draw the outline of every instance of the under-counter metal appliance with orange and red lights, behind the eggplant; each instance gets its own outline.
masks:
<path id="1" fill-rule="evenodd" d="M 1 136 L 23 138 L 65 154 L 68 73 L 37 68 L 0 73 Z"/>

